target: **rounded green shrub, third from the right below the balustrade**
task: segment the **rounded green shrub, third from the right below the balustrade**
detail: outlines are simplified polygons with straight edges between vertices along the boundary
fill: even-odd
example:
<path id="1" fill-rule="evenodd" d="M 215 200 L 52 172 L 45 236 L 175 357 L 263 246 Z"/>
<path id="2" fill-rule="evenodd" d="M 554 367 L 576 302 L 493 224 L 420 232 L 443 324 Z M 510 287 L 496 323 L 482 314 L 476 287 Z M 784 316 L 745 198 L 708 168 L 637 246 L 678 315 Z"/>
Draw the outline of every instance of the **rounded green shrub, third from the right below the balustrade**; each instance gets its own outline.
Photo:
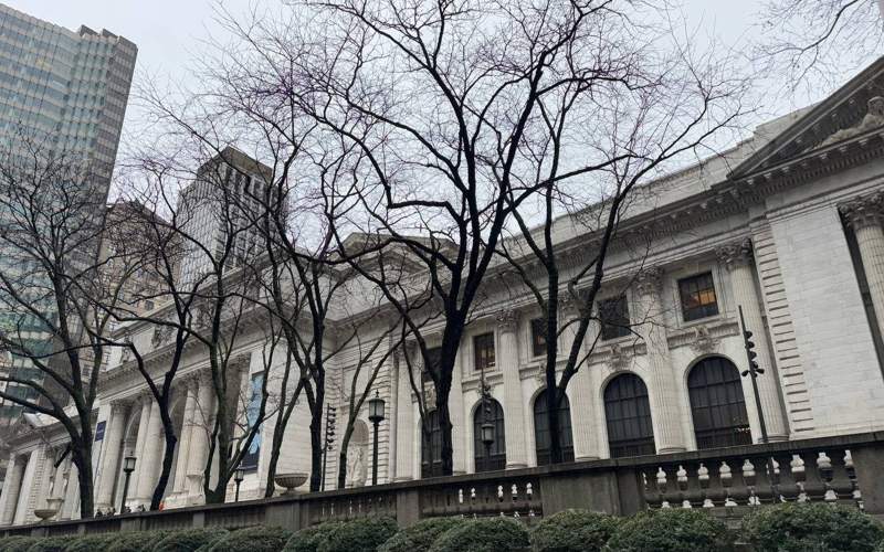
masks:
<path id="1" fill-rule="evenodd" d="M 590 552 L 602 550 L 614 534 L 618 519 L 589 510 L 554 513 L 532 531 L 535 552 Z"/>

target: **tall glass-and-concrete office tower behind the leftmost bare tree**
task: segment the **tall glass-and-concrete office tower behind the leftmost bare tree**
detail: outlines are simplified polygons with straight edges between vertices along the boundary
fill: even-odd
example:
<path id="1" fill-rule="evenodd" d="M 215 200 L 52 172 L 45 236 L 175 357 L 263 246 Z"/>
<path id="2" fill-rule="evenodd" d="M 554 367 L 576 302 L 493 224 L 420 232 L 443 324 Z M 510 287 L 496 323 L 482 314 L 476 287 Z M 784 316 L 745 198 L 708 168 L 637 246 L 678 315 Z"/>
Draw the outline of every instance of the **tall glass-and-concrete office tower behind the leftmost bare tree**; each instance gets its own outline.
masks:
<path id="1" fill-rule="evenodd" d="M 69 187 L 66 192 L 86 199 L 72 202 L 83 211 L 75 214 L 95 221 L 97 229 L 104 217 L 136 55 L 133 42 L 109 31 L 95 32 L 83 25 L 74 32 L 0 3 L 0 159 L 15 166 L 38 148 L 46 158 L 71 159 L 85 168 L 80 178 L 60 180 Z M 7 189 L 0 189 L 6 199 L 9 192 L 28 185 L 27 178 L 12 183 L 12 179 L 6 180 Z M 10 203 L 6 201 L 0 209 L 0 224 L 6 226 L 14 211 Z M 0 269 L 13 274 L 28 270 L 27 253 L 12 245 L 9 241 L 0 244 Z M 81 246 L 73 258 L 95 258 L 97 248 L 95 240 Z M 39 287 L 40 277 L 34 282 Z M 51 300 L 45 302 L 52 308 Z M 21 317 L 0 305 L 0 322 L 21 323 Z M 40 331 L 33 329 L 35 340 Z M 17 375 L 39 378 L 22 359 L 13 357 L 11 362 Z M 14 392 L 35 396 L 30 388 Z M 0 405 L 0 425 L 19 411 L 8 403 Z"/>

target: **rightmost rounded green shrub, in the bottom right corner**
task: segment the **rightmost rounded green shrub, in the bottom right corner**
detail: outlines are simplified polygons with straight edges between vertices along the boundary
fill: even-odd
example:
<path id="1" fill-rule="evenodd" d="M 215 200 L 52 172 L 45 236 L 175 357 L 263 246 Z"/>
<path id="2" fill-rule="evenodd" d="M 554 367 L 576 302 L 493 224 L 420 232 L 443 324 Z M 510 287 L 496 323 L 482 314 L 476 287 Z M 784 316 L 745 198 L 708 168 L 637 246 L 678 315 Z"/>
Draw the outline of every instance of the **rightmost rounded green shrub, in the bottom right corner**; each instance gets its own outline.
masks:
<path id="1" fill-rule="evenodd" d="M 759 550 L 792 552 L 815 550 L 873 552 L 884 539 L 884 528 L 860 510 L 815 503 L 759 508 L 743 520 L 741 537 Z"/>

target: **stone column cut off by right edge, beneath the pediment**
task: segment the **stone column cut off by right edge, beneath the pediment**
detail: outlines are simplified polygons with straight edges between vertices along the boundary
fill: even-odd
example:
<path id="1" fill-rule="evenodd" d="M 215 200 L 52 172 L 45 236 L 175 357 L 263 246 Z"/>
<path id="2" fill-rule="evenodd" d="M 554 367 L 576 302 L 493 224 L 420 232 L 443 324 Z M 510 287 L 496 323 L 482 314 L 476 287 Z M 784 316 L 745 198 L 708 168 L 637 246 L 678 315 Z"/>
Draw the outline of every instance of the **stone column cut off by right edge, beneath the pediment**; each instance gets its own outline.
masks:
<path id="1" fill-rule="evenodd" d="M 838 209 L 856 236 L 877 328 L 884 332 L 884 193 L 856 198 Z"/>

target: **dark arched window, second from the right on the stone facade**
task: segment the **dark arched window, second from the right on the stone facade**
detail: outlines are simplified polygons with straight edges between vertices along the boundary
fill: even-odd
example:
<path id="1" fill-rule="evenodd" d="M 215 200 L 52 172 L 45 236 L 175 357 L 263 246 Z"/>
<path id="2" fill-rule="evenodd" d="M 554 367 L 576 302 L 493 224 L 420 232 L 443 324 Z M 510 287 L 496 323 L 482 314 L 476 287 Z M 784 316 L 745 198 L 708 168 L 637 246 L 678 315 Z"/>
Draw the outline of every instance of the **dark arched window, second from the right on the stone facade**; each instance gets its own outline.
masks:
<path id="1" fill-rule="evenodd" d="M 648 388 L 635 374 L 618 375 L 604 389 L 604 418 L 611 458 L 654 454 Z"/>

